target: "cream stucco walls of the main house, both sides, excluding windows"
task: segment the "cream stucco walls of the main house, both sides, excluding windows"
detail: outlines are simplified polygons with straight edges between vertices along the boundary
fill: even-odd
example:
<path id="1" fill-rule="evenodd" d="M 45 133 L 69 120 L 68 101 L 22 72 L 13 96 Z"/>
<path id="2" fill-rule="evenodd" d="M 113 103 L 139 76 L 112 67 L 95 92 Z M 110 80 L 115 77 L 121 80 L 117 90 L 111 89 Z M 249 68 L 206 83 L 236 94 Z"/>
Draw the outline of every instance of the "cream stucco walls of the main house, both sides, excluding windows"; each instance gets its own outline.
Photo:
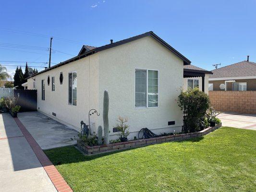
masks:
<path id="1" fill-rule="evenodd" d="M 135 69 L 158 70 L 158 108 L 135 108 Z M 68 73 L 77 71 L 77 106 L 68 104 Z M 60 84 L 60 72 L 63 84 Z M 47 78 L 55 76 L 55 91 L 51 91 Z M 91 125 L 97 132 L 103 127 L 103 94 L 109 91 L 110 139 L 118 136 L 112 132 L 118 116 L 128 118 L 130 139 L 138 136 L 142 128 L 160 132 L 180 132 L 183 114 L 176 99 L 183 87 L 183 60 L 171 53 L 150 36 L 100 51 L 84 59 L 38 74 L 36 79 L 38 110 L 80 128 L 80 121 L 88 124 L 88 111 L 95 108 L 100 116 L 91 116 Z M 45 101 L 41 100 L 41 80 L 45 79 Z M 28 84 L 33 86 L 30 78 Z M 33 88 L 33 87 L 29 87 Z M 168 126 L 168 121 L 175 125 Z"/>

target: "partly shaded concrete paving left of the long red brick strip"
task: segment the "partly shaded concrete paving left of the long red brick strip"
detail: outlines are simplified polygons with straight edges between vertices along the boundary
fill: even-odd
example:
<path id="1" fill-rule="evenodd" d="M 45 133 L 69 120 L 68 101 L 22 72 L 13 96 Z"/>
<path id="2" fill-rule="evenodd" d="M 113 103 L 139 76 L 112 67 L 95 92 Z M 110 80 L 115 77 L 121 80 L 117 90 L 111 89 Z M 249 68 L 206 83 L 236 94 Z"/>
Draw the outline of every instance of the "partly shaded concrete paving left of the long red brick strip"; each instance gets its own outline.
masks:
<path id="1" fill-rule="evenodd" d="M 57 192 L 10 114 L 0 114 L 0 191 Z"/>

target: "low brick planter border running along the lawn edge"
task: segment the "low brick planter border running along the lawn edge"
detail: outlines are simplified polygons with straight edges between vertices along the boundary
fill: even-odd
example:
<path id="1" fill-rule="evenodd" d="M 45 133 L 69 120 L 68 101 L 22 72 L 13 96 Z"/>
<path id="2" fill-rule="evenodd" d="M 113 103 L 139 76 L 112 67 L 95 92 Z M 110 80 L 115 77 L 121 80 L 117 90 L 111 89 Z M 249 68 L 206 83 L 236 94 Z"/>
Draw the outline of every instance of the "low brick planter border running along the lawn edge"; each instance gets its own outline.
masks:
<path id="1" fill-rule="evenodd" d="M 77 146 L 83 152 L 85 152 L 85 154 L 93 155 L 98 153 L 106 153 L 111 151 L 128 149 L 131 147 L 140 147 L 140 146 L 146 146 L 150 144 L 157 144 L 157 143 L 170 142 L 170 141 L 182 141 L 188 138 L 201 137 L 203 135 L 206 135 L 210 132 L 215 131 L 216 129 L 219 129 L 220 127 L 221 127 L 221 123 L 214 127 L 209 127 L 207 129 L 204 129 L 200 132 L 183 133 L 178 135 L 155 137 L 151 139 L 140 139 L 140 140 L 127 141 L 127 142 L 120 142 L 116 144 L 104 144 L 104 145 L 97 145 L 97 146 L 87 146 L 81 140 L 78 139 Z"/>

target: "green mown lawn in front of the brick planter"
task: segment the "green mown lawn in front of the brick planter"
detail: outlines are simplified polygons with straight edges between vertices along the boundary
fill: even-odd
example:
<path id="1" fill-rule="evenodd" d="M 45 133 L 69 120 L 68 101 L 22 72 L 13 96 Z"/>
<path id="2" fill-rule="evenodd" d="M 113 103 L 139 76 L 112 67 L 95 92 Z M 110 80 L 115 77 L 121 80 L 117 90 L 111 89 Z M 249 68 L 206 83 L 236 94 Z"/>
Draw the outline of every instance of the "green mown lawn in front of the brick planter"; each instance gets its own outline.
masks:
<path id="1" fill-rule="evenodd" d="M 45 152 L 74 192 L 255 192 L 256 131 L 222 127 L 202 138 L 96 156 Z"/>

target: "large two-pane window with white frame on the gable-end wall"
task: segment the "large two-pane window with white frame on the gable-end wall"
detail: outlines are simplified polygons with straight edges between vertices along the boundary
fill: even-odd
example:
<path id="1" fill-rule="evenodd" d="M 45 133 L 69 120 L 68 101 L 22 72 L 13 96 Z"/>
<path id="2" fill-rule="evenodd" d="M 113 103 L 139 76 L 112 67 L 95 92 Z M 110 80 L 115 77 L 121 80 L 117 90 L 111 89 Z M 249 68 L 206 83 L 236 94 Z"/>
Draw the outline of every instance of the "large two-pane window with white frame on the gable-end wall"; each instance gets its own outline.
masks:
<path id="1" fill-rule="evenodd" d="M 135 108 L 158 107 L 158 71 L 135 69 Z"/>

